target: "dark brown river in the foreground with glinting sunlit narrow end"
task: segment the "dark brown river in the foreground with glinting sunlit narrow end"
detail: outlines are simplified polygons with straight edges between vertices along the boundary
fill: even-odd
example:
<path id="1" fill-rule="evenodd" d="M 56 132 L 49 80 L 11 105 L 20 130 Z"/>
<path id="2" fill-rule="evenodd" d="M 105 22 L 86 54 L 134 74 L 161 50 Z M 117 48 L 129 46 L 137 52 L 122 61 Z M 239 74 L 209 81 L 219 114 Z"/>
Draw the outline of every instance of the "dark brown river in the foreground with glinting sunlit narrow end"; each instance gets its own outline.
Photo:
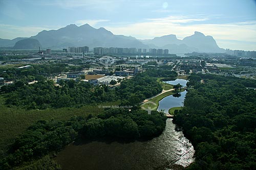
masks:
<path id="1" fill-rule="evenodd" d="M 54 159 L 62 169 L 181 169 L 194 161 L 194 152 L 172 119 L 167 119 L 163 133 L 151 140 L 72 143 Z"/>

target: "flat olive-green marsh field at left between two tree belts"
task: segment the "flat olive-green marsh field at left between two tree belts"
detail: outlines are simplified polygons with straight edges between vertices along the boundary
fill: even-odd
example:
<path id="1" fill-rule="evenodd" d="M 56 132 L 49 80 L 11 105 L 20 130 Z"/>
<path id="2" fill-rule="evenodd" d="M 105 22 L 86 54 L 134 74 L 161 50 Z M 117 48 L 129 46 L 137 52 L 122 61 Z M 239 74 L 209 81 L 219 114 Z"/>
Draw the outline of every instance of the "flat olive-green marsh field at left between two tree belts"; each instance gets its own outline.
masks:
<path id="1" fill-rule="evenodd" d="M 37 120 L 68 120 L 72 116 L 97 115 L 103 111 L 99 105 L 118 105 L 119 101 L 88 105 L 80 108 L 58 108 L 46 110 L 24 110 L 17 107 L 4 105 L 3 96 L 0 95 L 0 155 L 7 149 L 7 145 L 14 141 L 14 138 L 24 132 Z"/>

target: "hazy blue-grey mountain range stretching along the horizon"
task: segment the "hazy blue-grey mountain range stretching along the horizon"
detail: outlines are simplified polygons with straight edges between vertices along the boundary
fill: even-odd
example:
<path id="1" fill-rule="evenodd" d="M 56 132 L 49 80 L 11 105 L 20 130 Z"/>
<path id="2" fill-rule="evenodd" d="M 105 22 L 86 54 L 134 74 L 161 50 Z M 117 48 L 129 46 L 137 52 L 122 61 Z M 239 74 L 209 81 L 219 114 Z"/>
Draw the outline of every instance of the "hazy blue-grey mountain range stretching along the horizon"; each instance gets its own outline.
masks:
<path id="1" fill-rule="evenodd" d="M 67 48 L 69 46 L 89 46 L 93 47 L 136 47 L 136 48 L 163 48 L 168 49 L 169 53 L 190 53 L 190 52 L 205 52 L 205 53 L 224 53 L 225 50 L 220 48 L 213 37 L 205 36 L 200 32 L 195 32 L 194 35 L 185 37 L 183 40 L 177 39 L 176 35 L 166 35 L 155 37 L 154 39 L 138 40 L 132 36 L 114 35 L 112 32 L 99 28 L 95 29 L 90 25 L 82 25 L 80 27 L 71 24 L 58 30 L 41 31 L 30 38 L 39 41 L 44 48 Z M 14 46 L 20 40 L 26 38 L 15 38 L 13 40 L 0 39 L 0 46 Z M 20 45 L 25 49 L 29 46 L 38 45 L 34 41 L 32 45 Z M 15 47 L 17 49 L 17 47 Z"/>

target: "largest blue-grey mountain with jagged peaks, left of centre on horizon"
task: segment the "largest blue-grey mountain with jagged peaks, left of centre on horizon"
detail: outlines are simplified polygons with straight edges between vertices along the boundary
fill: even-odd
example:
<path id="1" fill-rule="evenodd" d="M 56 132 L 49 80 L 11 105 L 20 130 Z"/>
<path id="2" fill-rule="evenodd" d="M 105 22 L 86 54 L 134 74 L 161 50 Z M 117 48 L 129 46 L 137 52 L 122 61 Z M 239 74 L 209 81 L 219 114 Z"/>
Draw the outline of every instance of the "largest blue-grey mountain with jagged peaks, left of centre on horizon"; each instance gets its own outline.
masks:
<path id="1" fill-rule="evenodd" d="M 104 28 L 95 29 L 88 24 L 80 27 L 72 24 L 58 30 L 42 31 L 31 38 L 39 40 L 44 47 L 67 47 L 65 45 L 68 43 L 74 46 L 87 45 L 90 48 L 97 46 L 148 48 L 136 38 L 114 35 Z"/>

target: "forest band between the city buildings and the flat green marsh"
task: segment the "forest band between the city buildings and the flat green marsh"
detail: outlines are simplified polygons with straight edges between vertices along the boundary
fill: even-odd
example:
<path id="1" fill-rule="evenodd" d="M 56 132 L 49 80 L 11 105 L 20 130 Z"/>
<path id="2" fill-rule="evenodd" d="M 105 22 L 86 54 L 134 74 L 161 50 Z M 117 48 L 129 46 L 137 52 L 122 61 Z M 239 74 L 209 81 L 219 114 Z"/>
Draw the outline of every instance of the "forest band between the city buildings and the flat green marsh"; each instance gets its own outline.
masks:
<path id="1" fill-rule="evenodd" d="M 116 100 L 121 100 L 123 105 L 134 106 L 161 91 L 161 85 L 147 74 L 138 74 L 114 89 L 75 81 L 61 82 L 60 86 L 55 86 L 53 81 L 39 81 L 31 85 L 17 81 L 0 89 L 6 105 L 25 109 L 81 107 Z"/>

